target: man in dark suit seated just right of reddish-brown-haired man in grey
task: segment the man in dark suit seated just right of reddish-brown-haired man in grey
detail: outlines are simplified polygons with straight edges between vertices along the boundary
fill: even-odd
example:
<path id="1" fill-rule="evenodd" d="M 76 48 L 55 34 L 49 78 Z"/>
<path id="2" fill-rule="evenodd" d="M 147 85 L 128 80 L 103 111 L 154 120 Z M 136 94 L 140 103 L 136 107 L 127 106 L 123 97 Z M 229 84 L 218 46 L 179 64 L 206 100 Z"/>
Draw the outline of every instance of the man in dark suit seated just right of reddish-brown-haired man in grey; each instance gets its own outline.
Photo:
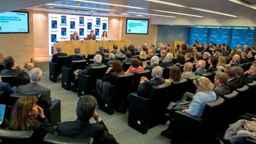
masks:
<path id="1" fill-rule="evenodd" d="M 233 66 L 227 66 L 224 72 L 228 76 L 227 86 L 229 87 L 230 92 L 244 86 L 242 82 L 236 77 L 236 69 Z"/>

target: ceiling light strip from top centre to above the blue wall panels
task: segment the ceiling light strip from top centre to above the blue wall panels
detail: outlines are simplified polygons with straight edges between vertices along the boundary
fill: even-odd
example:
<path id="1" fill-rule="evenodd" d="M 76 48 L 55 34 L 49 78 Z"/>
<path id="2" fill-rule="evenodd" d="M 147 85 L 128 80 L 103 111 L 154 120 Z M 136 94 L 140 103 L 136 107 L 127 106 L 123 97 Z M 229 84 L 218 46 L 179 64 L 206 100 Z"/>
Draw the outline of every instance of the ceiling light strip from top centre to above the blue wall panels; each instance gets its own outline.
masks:
<path id="1" fill-rule="evenodd" d="M 206 9 L 202 9 L 202 8 L 194 8 L 194 7 L 191 7 L 191 6 L 184 6 L 184 5 L 175 4 L 175 3 L 172 3 L 172 2 L 164 2 L 164 1 L 161 1 L 161 0 L 145 0 L 145 1 L 156 2 L 156 3 L 159 3 L 159 4 L 166 4 L 166 5 L 170 5 L 170 6 L 178 6 L 178 7 L 181 7 L 181 8 L 189 8 L 189 9 L 192 9 L 192 10 L 199 10 L 199 11 L 203 11 L 203 12 L 210 12 L 210 13 L 214 13 L 214 14 L 220 14 L 220 15 L 224 15 L 224 16 L 231 16 L 231 17 L 234 17 L 234 18 L 238 18 L 238 16 L 235 16 L 235 15 L 232 15 L 232 14 L 226 14 L 226 13 L 216 12 L 216 11 L 213 11 L 213 10 L 206 10 Z M 230 0 L 230 1 L 232 1 L 232 0 Z"/>

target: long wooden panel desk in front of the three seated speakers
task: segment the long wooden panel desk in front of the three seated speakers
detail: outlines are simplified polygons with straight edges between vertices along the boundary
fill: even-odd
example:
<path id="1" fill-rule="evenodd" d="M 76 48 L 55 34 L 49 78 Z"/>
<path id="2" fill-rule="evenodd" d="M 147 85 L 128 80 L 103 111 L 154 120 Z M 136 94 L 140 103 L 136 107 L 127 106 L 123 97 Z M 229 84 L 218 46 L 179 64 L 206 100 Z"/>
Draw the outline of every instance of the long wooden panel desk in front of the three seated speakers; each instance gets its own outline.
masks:
<path id="1" fill-rule="evenodd" d="M 57 53 L 56 47 L 61 46 L 62 51 L 68 55 L 74 54 L 74 48 L 80 48 L 81 54 L 95 54 L 99 50 L 99 46 L 103 48 L 109 48 L 109 51 L 113 51 L 113 45 L 116 44 L 118 47 L 128 46 L 128 40 L 87 40 L 87 41 L 59 41 L 54 43 L 54 54 Z"/>

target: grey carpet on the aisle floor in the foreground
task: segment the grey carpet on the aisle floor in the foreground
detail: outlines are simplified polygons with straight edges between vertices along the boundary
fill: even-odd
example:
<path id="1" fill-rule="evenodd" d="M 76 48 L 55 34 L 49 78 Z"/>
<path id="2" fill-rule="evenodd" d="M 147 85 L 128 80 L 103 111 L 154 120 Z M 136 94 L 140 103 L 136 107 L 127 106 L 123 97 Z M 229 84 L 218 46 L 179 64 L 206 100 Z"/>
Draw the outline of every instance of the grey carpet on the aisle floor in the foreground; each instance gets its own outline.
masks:
<path id="1" fill-rule="evenodd" d="M 76 103 L 78 100 L 77 93 L 67 91 L 61 87 L 61 80 L 54 83 L 49 79 L 49 71 L 43 71 L 42 86 L 50 88 L 52 99 L 61 100 L 61 121 L 73 121 L 76 119 Z M 128 112 L 122 114 L 114 112 L 108 115 L 100 109 L 96 109 L 109 132 L 114 135 L 120 144 L 170 144 L 170 139 L 161 136 L 162 130 L 168 127 L 166 125 L 158 125 L 148 130 L 147 134 L 141 134 L 128 126 Z M 92 118 L 90 122 L 95 122 Z"/>

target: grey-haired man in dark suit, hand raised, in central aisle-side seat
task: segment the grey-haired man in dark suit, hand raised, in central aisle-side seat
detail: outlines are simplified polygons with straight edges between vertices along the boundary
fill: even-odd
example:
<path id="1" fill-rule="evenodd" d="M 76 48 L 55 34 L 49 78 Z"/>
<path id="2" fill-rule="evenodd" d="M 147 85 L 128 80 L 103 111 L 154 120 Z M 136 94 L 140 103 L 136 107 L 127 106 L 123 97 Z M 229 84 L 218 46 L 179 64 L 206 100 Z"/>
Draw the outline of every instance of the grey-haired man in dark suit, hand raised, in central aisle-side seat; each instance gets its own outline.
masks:
<path id="1" fill-rule="evenodd" d="M 150 95 L 152 86 L 156 86 L 158 84 L 164 83 L 164 78 L 162 78 L 162 74 L 163 74 L 163 69 L 160 66 L 156 66 L 152 70 L 151 80 L 148 80 L 146 77 L 142 77 L 140 80 L 140 84 L 138 86 L 138 96 L 148 98 Z"/>

